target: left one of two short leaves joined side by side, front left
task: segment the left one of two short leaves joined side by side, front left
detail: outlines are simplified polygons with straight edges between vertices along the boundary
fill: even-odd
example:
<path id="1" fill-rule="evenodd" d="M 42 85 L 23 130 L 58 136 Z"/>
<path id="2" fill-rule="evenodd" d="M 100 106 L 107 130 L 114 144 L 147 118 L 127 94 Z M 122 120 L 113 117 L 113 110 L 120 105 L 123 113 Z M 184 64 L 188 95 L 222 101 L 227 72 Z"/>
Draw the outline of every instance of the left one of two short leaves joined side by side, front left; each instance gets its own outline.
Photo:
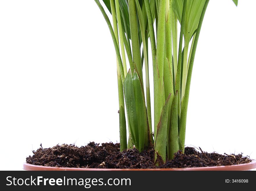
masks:
<path id="1" fill-rule="evenodd" d="M 136 114 L 136 104 L 132 85 L 131 71 L 129 70 L 124 81 L 125 104 L 128 119 L 128 129 L 131 133 L 132 141 L 136 148 L 139 148 L 138 122 Z"/>

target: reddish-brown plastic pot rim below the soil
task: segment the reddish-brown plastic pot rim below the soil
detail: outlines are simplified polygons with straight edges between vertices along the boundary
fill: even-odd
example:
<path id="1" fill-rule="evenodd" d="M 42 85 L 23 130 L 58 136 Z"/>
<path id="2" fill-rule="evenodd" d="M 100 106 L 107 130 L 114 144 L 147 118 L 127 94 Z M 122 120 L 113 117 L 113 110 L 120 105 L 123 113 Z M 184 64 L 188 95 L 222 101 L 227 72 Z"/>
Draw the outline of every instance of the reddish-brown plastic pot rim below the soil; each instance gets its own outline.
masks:
<path id="1" fill-rule="evenodd" d="M 215 167 L 195 167 L 195 168 L 156 168 L 156 169 L 99 169 L 99 168 L 68 168 L 68 167 L 45 167 L 38 165 L 31 165 L 24 163 L 23 169 L 29 171 L 35 170 L 56 170 L 56 171 L 67 171 L 67 170 L 78 170 L 78 171 L 234 171 L 234 170 L 251 170 L 256 168 L 256 160 L 250 163 L 240 164 L 240 165 L 230 165 L 230 166 L 215 166 Z"/>

